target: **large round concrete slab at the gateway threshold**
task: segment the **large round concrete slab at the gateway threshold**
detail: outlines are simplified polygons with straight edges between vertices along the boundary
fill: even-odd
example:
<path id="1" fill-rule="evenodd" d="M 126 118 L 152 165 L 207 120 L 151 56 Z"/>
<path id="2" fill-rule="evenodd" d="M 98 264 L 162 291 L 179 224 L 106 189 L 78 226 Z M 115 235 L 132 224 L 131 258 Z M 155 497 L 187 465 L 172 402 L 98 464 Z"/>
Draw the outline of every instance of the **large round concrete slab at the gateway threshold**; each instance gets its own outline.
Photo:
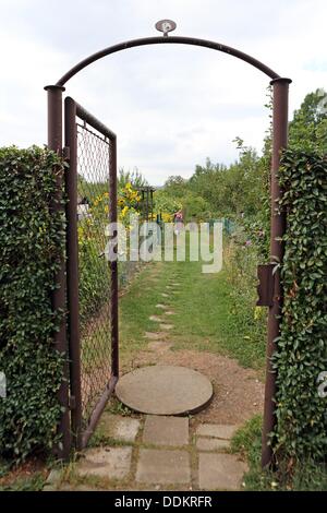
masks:
<path id="1" fill-rule="evenodd" d="M 203 409 L 214 394 L 199 372 L 177 366 L 143 367 L 120 378 L 117 397 L 129 408 L 149 415 L 187 415 Z"/>

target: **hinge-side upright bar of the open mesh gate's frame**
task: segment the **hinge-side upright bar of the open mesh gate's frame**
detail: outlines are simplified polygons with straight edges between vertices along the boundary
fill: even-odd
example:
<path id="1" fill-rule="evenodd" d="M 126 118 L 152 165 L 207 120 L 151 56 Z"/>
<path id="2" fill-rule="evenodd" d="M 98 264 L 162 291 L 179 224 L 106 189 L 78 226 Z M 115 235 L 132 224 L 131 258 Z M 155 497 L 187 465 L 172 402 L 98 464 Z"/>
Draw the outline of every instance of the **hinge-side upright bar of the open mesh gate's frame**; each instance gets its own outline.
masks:
<path id="1" fill-rule="evenodd" d="M 82 392 L 81 392 L 81 347 L 80 347 L 80 301 L 78 301 L 78 237 L 77 237 L 77 129 L 76 104 L 72 98 L 64 100 L 64 144 L 69 169 L 65 175 L 66 204 L 66 299 L 70 354 L 70 386 L 72 433 L 75 446 L 81 446 Z"/>

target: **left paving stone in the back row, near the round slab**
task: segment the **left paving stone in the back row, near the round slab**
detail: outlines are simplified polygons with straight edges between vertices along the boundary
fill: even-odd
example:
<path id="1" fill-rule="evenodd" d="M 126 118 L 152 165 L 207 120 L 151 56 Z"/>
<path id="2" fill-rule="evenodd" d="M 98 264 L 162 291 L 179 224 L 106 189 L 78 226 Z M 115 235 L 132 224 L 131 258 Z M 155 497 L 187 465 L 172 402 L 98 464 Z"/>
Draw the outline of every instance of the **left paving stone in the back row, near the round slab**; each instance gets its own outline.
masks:
<path id="1" fill-rule="evenodd" d="M 106 437 L 113 438 L 114 440 L 121 440 L 123 442 L 134 442 L 141 422 L 137 419 L 122 417 L 121 415 L 112 415 L 105 411 L 101 416 L 101 420 L 98 430 Z"/>

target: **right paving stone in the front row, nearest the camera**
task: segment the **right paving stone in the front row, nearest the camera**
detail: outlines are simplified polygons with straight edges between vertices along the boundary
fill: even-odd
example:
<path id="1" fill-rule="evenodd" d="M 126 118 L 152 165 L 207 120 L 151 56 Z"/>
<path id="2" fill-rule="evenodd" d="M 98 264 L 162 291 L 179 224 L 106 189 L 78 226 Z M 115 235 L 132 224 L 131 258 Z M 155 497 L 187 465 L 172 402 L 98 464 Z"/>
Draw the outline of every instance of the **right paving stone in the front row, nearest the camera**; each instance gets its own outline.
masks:
<path id="1" fill-rule="evenodd" d="M 247 467 L 233 454 L 199 453 L 198 486 L 201 490 L 241 490 Z"/>

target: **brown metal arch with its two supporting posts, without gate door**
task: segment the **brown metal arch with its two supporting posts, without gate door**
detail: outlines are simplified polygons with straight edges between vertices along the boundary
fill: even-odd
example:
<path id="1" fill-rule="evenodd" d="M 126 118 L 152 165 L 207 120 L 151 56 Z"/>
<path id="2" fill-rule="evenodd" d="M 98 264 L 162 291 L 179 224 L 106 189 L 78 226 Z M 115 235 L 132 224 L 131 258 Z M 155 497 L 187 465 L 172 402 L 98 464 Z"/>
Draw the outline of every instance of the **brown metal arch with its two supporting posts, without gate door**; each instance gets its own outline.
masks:
<path id="1" fill-rule="evenodd" d="M 179 44 L 179 45 L 191 45 L 198 46 L 203 48 L 208 48 L 213 50 L 220 51 L 222 53 L 235 57 L 249 64 L 253 65 L 257 70 L 265 73 L 270 79 L 270 84 L 272 85 L 272 162 L 271 162 L 271 235 L 270 235 L 270 255 L 274 262 L 281 262 L 283 258 L 283 244 L 281 238 L 286 229 L 286 214 L 278 211 L 277 202 L 280 198 L 281 190 L 279 187 L 277 174 L 280 164 L 280 152 L 283 147 L 287 146 L 288 142 L 288 92 L 289 84 L 291 83 L 290 79 L 281 77 L 274 70 L 254 59 L 253 57 L 231 48 L 226 45 L 221 45 L 217 41 L 198 39 L 193 37 L 179 37 L 179 36 L 169 36 L 169 37 L 146 37 L 141 39 L 133 39 L 130 41 L 120 43 L 118 45 L 110 46 L 105 48 L 86 59 L 78 62 L 70 71 L 68 71 L 55 85 L 46 86 L 48 92 L 48 146 L 55 152 L 62 153 L 62 93 L 65 91 L 64 85 L 69 82 L 70 79 L 75 76 L 80 71 L 87 68 L 89 64 L 93 64 L 99 59 L 107 57 L 109 55 L 126 50 L 129 48 L 136 48 L 147 45 L 162 45 L 162 44 Z M 61 178 L 58 177 L 58 195 L 61 194 Z M 266 370 L 266 384 L 265 384 L 265 407 L 264 407 L 264 429 L 263 429 L 263 451 L 262 451 L 262 465 L 266 466 L 272 462 L 272 450 L 269 442 L 269 433 L 272 431 L 276 417 L 275 417 L 275 405 L 274 397 L 276 394 L 276 372 L 271 368 L 271 355 L 276 349 L 276 337 L 279 335 L 279 325 L 280 325 L 280 312 L 282 307 L 282 287 L 280 283 L 280 271 L 277 271 L 272 274 L 272 266 L 268 265 L 266 276 L 269 279 L 266 279 L 266 284 L 269 284 L 270 290 L 263 294 L 264 296 L 269 296 L 270 300 L 267 303 L 261 302 L 269 307 L 268 314 L 268 335 L 267 335 L 267 370 Z M 64 285 L 64 262 L 62 262 L 61 270 L 57 275 L 58 288 L 53 294 L 53 308 L 65 309 L 65 285 Z M 262 293 L 265 293 L 265 284 L 261 285 Z M 65 322 L 62 322 L 60 331 L 56 334 L 55 337 L 56 347 L 60 353 L 66 354 L 66 335 L 65 335 Z M 68 368 L 65 369 L 68 373 Z M 65 413 L 62 415 L 61 426 L 59 427 L 60 431 L 63 433 L 63 443 L 62 450 L 60 451 L 60 456 L 65 458 L 69 453 L 69 384 L 68 381 L 62 383 L 62 386 L 59 392 L 59 401 L 63 406 L 66 406 Z"/>

